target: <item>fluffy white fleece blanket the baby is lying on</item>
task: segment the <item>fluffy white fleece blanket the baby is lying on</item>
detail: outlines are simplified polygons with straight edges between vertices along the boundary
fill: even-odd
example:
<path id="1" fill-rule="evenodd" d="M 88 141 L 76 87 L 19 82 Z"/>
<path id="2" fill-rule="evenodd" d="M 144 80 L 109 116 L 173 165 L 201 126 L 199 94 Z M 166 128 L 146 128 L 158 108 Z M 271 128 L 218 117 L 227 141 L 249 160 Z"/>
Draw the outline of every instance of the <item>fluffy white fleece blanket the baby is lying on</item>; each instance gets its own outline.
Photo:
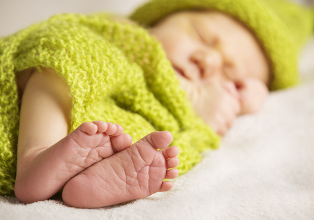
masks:
<path id="1" fill-rule="evenodd" d="M 0 219 L 314 219 L 314 38 L 303 83 L 271 93 L 171 191 L 98 209 L 0 196 Z"/>

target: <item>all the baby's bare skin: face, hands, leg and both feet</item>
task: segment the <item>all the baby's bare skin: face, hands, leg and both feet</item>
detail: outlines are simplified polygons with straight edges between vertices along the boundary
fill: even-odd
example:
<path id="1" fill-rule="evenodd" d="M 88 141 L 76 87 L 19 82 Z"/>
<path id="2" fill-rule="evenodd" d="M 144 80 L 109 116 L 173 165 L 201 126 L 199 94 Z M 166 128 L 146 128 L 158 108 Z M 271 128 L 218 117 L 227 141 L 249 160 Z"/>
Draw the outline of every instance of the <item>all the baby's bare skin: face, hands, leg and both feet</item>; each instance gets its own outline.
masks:
<path id="1" fill-rule="evenodd" d="M 196 113 L 216 132 L 225 134 L 237 115 L 260 109 L 269 68 L 244 26 L 221 13 L 183 12 L 149 31 L 162 42 Z M 23 76 L 17 77 L 22 108 L 15 194 L 20 201 L 47 199 L 64 185 L 68 205 L 98 207 L 172 188 L 172 182 L 163 182 L 178 175 L 178 149 L 167 148 L 169 132 L 151 133 L 131 145 L 120 125 L 95 121 L 66 135 L 72 101 L 64 95 L 69 92 L 63 79 L 48 69 L 18 76 Z"/>

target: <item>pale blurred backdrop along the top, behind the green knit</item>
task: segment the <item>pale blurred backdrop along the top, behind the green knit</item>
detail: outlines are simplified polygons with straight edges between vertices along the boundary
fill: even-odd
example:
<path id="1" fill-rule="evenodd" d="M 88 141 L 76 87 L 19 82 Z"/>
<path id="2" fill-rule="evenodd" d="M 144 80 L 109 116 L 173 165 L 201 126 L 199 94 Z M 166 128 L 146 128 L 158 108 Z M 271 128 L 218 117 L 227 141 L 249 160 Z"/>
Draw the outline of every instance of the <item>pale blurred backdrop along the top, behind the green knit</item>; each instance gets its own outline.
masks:
<path id="1" fill-rule="evenodd" d="M 147 0 L 0 0 L 0 37 L 15 33 L 29 26 L 29 24 L 43 21 L 56 13 L 110 11 L 120 15 L 128 15 L 134 8 L 146 1 Z M 304 4 L 314 2 L 314 0 L 291 1 Z"/>

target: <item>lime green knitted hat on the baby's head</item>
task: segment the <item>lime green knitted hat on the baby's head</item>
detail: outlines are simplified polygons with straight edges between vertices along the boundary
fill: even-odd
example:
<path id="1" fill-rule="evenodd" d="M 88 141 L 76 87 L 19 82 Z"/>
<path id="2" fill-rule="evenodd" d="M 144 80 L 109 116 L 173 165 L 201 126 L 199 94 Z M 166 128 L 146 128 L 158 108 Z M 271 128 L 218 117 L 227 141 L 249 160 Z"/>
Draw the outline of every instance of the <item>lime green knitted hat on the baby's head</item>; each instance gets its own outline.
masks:
<path id="1" fill-rule="evenodd" d="M 149 27 L 170 13 L 189 9 L 219 10 L 244 23 L 269 58 L 271 90 L 298 83 L 298 54 L 313 31 L 313 9 L 284 0 L 151 0 L 130 19 Z"/>

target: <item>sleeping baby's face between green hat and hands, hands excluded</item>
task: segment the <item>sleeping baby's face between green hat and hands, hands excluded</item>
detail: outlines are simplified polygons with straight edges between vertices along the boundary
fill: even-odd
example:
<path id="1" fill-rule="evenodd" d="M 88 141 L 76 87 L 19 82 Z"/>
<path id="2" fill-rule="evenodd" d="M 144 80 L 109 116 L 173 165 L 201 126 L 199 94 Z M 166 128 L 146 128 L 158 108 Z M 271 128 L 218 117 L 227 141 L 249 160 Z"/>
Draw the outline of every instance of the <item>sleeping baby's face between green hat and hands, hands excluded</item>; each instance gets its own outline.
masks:
<path id="1" fill-rule="evenodd" d="M 253 77 L 267 84 L 269 66 L 257 40 L 239 22 L 222 13 L 172 14 L 150 29 L 162 43 L 174 69 L 186 79 L 206 81 Z"/>

